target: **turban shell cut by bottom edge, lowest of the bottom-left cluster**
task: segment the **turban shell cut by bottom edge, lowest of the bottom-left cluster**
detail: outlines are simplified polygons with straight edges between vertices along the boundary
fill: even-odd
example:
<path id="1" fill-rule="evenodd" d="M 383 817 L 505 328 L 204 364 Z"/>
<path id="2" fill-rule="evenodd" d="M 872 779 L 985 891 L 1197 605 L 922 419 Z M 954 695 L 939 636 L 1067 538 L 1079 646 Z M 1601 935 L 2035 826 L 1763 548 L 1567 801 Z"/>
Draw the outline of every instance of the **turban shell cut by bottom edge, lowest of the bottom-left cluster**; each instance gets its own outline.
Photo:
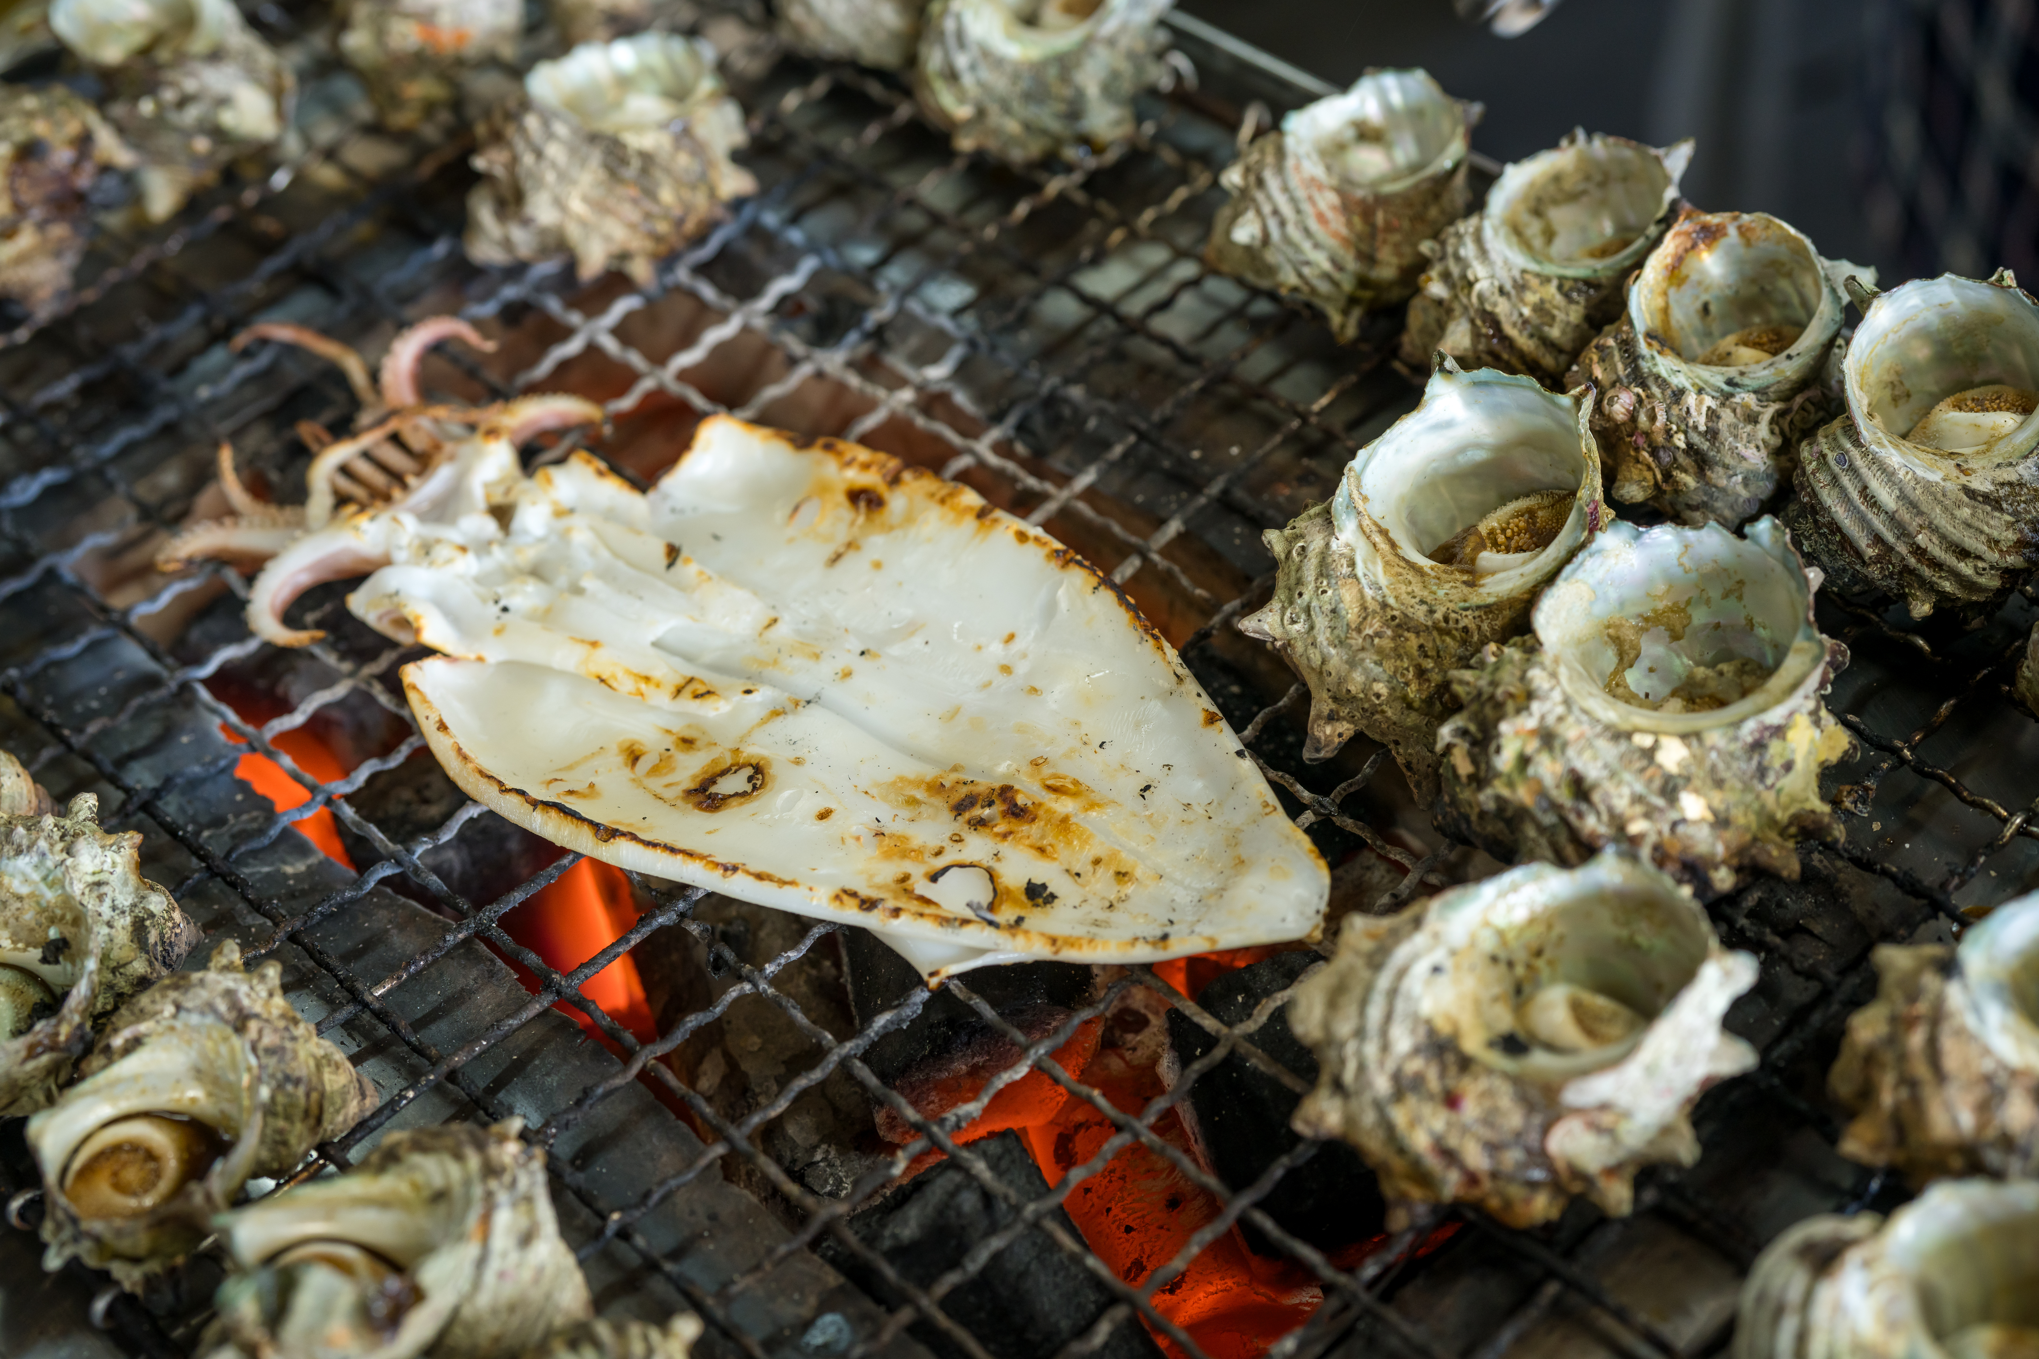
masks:
<path id="1" fill-rule="evenodd" d="M 216 1296 L 210 1357 L 581 1353 L 544 1347 L 591 1306 L 559 1237 L 544 1151 L 520 1131 L 512 1119 L 389 1133 L 345 1176 L 222 1214 L 234 1273 Z"/>

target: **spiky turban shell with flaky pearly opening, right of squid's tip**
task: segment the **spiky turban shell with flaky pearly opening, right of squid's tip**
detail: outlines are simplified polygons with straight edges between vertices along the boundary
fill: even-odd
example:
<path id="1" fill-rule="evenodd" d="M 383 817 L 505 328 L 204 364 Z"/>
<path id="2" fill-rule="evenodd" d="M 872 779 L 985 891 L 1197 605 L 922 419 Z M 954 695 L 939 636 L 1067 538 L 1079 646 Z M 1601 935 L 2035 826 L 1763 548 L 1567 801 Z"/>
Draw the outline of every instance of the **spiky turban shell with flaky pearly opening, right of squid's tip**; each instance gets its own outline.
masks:
<path id="1" fill-rule="evenodd" d="M 1813 623 L 1784 528 L 1611 524 L 1535 605 L 1531 638 L 1452 676 L 1444 825 L 1505 860 L 1625 846 L 1701 892 L 1839 823 L 1819 774 L 1853 752 L 1823 703 L 1847 648 Z"/>

